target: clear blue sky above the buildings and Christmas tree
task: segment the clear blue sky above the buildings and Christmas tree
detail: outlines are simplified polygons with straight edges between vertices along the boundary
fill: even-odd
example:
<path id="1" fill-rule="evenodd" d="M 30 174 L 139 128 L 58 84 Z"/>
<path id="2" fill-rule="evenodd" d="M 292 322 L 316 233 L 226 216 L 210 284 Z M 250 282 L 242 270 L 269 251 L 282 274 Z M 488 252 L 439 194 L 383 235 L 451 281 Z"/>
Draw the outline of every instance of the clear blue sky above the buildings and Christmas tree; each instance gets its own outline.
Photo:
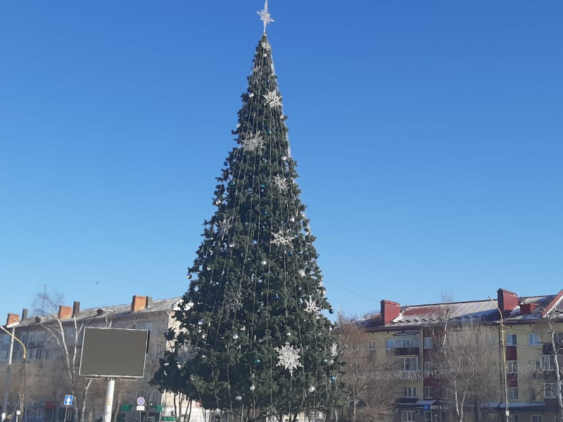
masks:
<path id="1" fill-rule="evenodd" d="M 184 293 L 262 6 L 0 0 L 1 318 Z M 562 1 L 270 12 L 335 307 L 563 288 Z"/>

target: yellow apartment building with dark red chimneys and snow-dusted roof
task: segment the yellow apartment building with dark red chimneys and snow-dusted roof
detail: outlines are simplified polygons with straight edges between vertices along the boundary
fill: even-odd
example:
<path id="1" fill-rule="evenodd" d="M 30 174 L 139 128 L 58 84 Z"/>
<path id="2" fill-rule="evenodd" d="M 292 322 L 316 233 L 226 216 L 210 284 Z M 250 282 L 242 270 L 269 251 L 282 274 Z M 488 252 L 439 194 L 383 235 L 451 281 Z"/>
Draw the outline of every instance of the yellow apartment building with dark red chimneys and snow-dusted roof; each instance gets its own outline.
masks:
<path id="1" fill-rule="evenodd" d="M 390 419 L 455 422 L 461 407 L 467 422 L 505 421 L 507 410 L 510 422 L 558 422 L 555 356 L 563 370 L 562 296 L 563 290 L 521 298 L 501 288 L 495 300 L 409 306 L 381 300 L 381 311 L 357 324 L 362 347 L 370 359 L 386 362 L 382 376 L 393 381 L 393 388 L 384 387 L 393 391 Z M 461 335 L 469 327 L 478 331 Z M 456 337 L 470 341 L 455 343 Z M 457 347 L 447 350 L 452 344 Z M 463 397 L 464 378 L 479 371 L 470 366 L 481 366 L 482 381 Z M 375 382 L 374 388 L 381 386 Z M 367 402 L 369 392 L 362 404 Z"/>

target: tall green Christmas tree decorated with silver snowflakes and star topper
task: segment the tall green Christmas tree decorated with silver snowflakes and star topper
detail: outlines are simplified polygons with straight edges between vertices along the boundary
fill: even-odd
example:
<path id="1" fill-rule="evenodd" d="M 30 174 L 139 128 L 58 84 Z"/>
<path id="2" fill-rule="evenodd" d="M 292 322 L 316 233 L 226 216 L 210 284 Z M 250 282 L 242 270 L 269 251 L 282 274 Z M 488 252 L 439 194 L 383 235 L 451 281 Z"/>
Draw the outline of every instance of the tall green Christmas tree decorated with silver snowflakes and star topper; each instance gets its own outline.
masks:
<path id="1" fill-rule="evenodd" d="M 215 214 L 189 268 L 153 382 L 229 419 L 255 421 L 327 411 L 338 397 L 339 359 L 317 252 L 296 183 L 286 117 L 264 34 L 242 95 L 237 145 L 217 177 Z"/>

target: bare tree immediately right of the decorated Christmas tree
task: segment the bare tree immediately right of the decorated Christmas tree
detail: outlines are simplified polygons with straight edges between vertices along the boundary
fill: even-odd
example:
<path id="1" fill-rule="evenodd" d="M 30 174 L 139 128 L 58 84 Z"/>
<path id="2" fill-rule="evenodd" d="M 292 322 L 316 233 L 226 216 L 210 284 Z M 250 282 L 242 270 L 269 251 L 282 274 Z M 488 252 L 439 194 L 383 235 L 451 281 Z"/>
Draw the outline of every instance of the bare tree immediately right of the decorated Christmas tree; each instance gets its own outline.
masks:
<path id="1" fill-rule="evenodd" d="M 339 315 L 337 339 L 352 421 L 388 420 L 397 388 L 390 376 L 391 362 L 376 350 L 369 350 L 361 321 Z"/>

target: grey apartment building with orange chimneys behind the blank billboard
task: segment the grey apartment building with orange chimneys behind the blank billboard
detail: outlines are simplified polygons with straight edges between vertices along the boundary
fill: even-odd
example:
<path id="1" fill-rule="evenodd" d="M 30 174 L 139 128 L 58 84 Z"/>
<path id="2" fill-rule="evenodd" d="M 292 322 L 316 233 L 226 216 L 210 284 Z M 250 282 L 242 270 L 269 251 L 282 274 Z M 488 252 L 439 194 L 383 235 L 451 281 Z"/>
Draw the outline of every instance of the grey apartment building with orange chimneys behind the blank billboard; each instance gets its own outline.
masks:
<path id="1" fill-rule="evenodd" d="M 62 421 L 65 411 L 68 421 L 101 420 L 105 383 L 78 376 L 84 327 L 137 328 L 149 331 L 145 376 L 116 381 L 115 419 L 118 422 L 175 420 L 175 412 L 182 410 L 178 397 L 161 394 L 149 381 L 167 347 L 164 334 L 175 326 L 172 315 L 179 300 L 152 300 L 134 295 L 130 305 L 80 309 L 80 302 L 74 302 L 72 307 L 59 307 L 57 314 L 28 316 L 27 309 L 21 316 L 8 314 L 5 328 L 22 341 L 27 356 L 24 365 L 23 347 L 4 331 L 0 333 L 2 412 L 7 409 L 12 414 L 24 392 L 27 422 Z M 75 396 L 72 407 L 67 409 L 63 406 L 65 395 Z M 137 411 L 137 397 L 146 399 L 146 411 Z M 194 409 L 192 421 L 202 422 L 203 412 L 197 411 L 197 405 Z"/>

